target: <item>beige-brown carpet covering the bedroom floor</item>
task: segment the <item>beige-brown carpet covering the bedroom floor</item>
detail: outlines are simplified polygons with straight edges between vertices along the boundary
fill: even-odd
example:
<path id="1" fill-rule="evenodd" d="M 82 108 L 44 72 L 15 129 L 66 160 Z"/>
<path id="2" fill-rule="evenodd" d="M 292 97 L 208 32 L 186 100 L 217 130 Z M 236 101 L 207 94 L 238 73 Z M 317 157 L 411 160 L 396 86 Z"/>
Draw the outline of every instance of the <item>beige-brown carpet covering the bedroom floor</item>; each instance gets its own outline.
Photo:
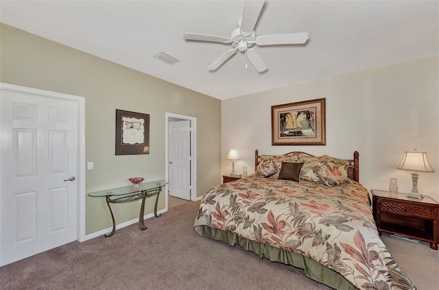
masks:
<path id="1" fill-rule="evenodd" d="M 198 205 L 145 220 L 144 231 L 133 224 L 1 267 L 0 289 L 329 289 L 301 269 L 200 237 L 192 228 Z M 418 289 L 438 289 L 438 251 L 382 238 Z"/>

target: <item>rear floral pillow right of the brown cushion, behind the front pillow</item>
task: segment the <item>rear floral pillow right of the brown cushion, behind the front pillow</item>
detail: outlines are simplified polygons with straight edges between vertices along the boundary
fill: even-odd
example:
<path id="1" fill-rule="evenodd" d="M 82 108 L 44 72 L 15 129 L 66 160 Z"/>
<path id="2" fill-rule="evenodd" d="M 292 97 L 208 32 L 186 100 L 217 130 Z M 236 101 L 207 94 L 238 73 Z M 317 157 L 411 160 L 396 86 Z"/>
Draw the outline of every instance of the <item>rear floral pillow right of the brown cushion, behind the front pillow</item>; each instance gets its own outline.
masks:
<path id="1" fill-rule="evenodd" d="M 303 161 L 304 164 L 302 166 L 302 170 L 300 170 L 300 179 L 303 181 L 320 181 L 320 176 L 314 172 L 314 169 L 318 169 L 328 162 L 333 162 L 340 170 L 345 170 L 346 176 L 348 167 L 350 165 L 349 161 L 337 159 L 328 155 L 323 155 L 320 157 L 303 157 Z"/>

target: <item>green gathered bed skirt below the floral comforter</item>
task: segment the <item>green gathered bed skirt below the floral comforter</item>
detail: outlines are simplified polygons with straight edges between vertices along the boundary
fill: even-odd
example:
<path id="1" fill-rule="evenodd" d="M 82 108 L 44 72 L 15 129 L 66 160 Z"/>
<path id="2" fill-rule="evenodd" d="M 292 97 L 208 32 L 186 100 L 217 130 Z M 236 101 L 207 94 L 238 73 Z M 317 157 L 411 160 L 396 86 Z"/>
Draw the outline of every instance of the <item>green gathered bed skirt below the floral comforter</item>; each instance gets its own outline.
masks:
<path id="1" fill-rule="evenodd" d="M 238 245 L 246 251 L 254 252 L 261 259 L 266 258 L 272 262 L 280 262 L 285 265 L 292 265 L 294 267 L 303 269 L 305 276 L 308 278 L 321 282 L 322 284 L 334 289 L 357 289 L 342 275 L 327 267 L 324 267 L 324 265 L 321 265 L 320 263 L 306 256 L 281 250 L 263 243 L 258 243 L 257 241 L 251 241 L 250 239 L 239 237 L 233 233 L 219 230 L 217 228 L 210 228 L 209 226 L 197 226 L 195 231 L 200 235 L 208 237 L 209 239 L 224 241 L 229 246 Z"/>

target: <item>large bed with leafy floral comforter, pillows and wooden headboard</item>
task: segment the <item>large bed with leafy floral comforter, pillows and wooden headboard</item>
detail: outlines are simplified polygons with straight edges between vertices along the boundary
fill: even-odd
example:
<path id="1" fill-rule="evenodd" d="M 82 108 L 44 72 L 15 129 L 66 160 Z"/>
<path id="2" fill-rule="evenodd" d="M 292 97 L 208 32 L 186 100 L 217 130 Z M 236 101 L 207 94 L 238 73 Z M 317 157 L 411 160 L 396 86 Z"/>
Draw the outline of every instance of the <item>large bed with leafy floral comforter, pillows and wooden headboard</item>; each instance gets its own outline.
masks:
<path id="1" fill-rule="evenodd" d="M 255 172 L 204 194 L 194 230 L 334 289 L 416 289 L 378 235 L 353 159 L 254 154 Z"/>

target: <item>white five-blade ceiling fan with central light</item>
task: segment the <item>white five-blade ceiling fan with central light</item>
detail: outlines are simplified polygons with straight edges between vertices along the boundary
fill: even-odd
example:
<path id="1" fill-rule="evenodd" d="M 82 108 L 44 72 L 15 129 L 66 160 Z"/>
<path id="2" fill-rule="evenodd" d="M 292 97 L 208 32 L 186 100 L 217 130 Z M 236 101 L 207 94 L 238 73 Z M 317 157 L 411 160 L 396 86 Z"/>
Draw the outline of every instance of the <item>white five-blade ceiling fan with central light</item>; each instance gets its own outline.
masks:
<path id="1" fill-rule="evenodd" d="M 307 32 L 298 32 L 293 34 L 272 34 L 258 36 L 254 33 L 254 25 L 261 13 L 264 1 L 247 0 L 244 5 L 242 18 L 238 21 L 238 28 L 232 31 L 230 38 L 224 36 L 211 36 L 207 34 L 185 33 L 185 40 L 211 41 L 231 43 L 232 49 L 229 49 L 217 58 L 209 67 L 209 70 L 217 70 L 226 60 L 237 51 L 246 53 L 247 59 L 258 72 L 264 72 L 268 69 L 265 62 L 259 56 L 257 51 L 250 48 L 256 45 L 276 45 L 276 44 L 303 44 L 307 42 L 309 36 Z"/>

